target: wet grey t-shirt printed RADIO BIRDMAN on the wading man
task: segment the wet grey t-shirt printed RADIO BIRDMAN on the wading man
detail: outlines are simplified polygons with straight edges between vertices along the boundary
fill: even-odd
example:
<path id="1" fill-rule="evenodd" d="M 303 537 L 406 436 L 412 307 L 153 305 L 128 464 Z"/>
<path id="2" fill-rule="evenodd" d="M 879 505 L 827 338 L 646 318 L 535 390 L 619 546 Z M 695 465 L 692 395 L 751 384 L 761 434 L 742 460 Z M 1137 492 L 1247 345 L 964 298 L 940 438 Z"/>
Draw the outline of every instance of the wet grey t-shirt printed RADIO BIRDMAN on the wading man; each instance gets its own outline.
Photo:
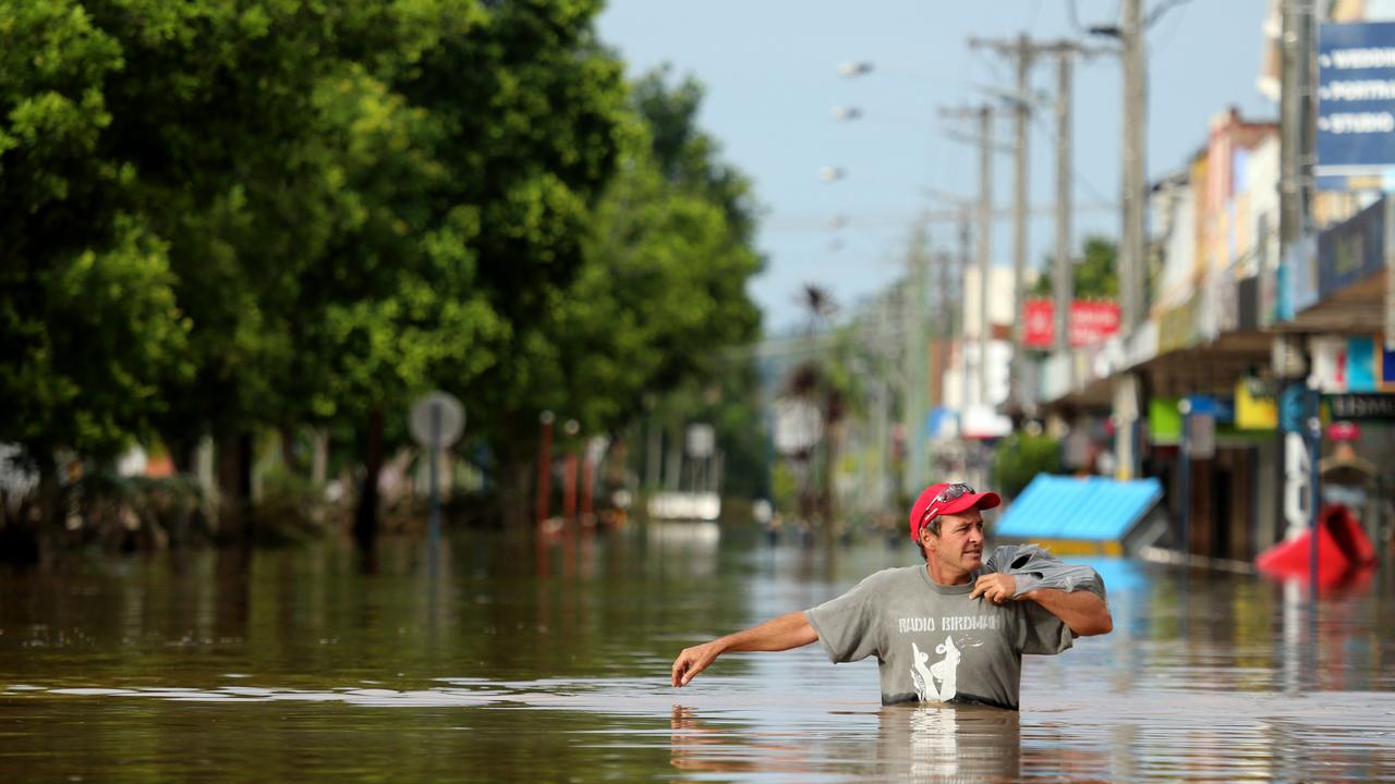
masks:
<path id="1" fill-rule="evenodd" d="M 1031 600 L 970 598 L 925 566 L 877 572 L 805 611 L 834 663 L 877 657 L 882 703 L 970 702 L 1017 710 L 1024 653 L 1071 646 L 1070 628 Z"/>

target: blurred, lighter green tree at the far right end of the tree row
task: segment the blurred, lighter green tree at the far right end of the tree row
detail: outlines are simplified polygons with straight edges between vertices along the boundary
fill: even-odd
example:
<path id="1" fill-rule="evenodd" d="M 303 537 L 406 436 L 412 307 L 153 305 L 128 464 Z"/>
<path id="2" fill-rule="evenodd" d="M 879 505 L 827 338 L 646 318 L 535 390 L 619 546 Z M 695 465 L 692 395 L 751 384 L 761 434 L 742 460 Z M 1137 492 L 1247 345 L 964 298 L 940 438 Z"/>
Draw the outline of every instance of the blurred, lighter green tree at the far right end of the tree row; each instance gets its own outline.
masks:
<path id="1" fill-rule="evenodd" d="M 755 495 L 764 490 L 766 446 L 759 381 L 739 347 L 760 325 L 746 294 L 763 265 L 755 247 L 759 211 L 749 180 L 700 128 L 702 98 L 695 80 L 675 81 L 667 68 L 635 82 L 638 133 L 598 212 L 593 289 L 578 297 L 596 318 L 590 331 L 568 335 L 633 339 L 633 352 L 617 346 L 582 360 L 593 372 L 628 370 L 633 379 L 607 381 L 615 416 L 598 427 L 643 417 L 672 442 L 688 423 L 714 424 L 727 474 L 739 477 L 727 488 Z"/>

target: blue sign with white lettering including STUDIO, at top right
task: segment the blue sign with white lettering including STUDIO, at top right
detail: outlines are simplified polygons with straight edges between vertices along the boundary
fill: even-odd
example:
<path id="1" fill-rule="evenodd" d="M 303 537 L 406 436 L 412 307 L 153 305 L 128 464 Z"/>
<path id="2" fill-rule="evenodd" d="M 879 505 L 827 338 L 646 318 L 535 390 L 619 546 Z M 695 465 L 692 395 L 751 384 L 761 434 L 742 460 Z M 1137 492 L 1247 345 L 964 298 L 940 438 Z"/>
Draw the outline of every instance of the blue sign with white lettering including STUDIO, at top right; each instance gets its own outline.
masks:
<path id="1" fill-rule="evenodd" d="M 1318 187 L 1395 190 L 1395 22 L 1321 25 L 1317 42 Z"/>

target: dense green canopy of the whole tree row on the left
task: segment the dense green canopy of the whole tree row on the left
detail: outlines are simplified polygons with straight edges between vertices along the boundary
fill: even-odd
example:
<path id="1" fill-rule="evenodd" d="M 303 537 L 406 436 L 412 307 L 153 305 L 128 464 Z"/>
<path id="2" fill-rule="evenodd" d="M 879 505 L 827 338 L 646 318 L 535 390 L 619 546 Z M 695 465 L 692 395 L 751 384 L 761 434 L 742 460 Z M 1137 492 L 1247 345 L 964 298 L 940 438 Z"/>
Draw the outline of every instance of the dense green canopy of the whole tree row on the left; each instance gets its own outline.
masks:
<path id="1" fill-rule="evenodd" d="M 0 441 L 363 430 L 498 460 L 755 336 L 749 181 L 598 0 L 0 0 Z"/>

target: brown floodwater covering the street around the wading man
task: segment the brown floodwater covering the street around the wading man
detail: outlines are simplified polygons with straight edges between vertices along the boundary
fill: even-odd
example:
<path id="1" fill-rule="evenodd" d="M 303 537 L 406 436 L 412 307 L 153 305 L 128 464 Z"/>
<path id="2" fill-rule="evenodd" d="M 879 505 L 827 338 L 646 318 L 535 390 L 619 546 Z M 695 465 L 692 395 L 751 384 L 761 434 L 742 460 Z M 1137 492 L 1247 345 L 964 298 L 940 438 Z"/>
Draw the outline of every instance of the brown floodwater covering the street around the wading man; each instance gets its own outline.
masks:
<path id="1" fill-rule="evenodd" d="M 1324 594 L 1092 561 L 1115 631 L 1020 713 L 882 707 L 873 661 L 674 656 L 918 562 L 755 530 L 463 533 L 0 571 L 3 781 L 1395 780 L 1391 575 Z"/>

